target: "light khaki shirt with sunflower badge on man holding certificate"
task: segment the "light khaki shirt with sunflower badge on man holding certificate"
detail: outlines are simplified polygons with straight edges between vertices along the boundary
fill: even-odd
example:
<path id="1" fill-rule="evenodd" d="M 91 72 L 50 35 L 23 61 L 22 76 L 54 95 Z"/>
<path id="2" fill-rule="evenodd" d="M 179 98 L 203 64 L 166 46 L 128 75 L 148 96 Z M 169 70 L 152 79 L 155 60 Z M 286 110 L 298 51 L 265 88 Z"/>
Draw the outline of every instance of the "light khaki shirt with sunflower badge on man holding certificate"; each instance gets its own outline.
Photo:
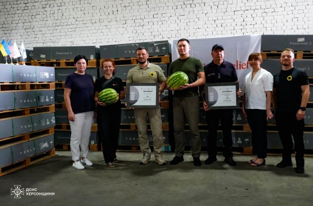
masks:
<path id="1" fill-rule="evenodd" d="M 161 67 L 156 64 L 149 63 L 146 68 L 141 68 L 137 64 L 130 69 L 127 74 L 127 83 L 157 83 L 166 80 Z"/>

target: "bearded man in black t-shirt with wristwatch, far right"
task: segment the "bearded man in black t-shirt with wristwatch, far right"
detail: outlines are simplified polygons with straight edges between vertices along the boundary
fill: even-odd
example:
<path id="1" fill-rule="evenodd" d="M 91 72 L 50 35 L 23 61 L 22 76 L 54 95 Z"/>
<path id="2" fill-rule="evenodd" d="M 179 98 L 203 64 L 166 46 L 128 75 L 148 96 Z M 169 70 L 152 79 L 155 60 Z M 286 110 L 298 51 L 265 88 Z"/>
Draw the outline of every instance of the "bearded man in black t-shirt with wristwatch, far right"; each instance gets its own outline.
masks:
<path id="1" fill-rule="evenodd" d="M 291 154 L 294 139 L 296 173 L 304 173 L 304 115 L 310 97 L 308 75 L 293 67 L 295 61 L 292 49 L 285 49 L 280 57 L 282 70 L 274 75 L 273 109 L 280 140 L 283 145 L 283 159 L 276 166 L 292 166 Z"/>

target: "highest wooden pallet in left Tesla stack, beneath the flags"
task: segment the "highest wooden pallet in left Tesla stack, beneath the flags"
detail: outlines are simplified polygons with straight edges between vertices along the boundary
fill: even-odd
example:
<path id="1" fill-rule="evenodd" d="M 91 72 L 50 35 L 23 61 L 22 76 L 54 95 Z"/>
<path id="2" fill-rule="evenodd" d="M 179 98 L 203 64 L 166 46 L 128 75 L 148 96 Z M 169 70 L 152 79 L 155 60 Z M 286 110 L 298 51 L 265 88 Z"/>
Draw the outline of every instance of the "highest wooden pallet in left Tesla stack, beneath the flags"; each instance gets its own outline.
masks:
<path id="1" fill-rule="evenodd" d="M 0 82 L 0 91 L 55 89 L 54 82 Z"/>

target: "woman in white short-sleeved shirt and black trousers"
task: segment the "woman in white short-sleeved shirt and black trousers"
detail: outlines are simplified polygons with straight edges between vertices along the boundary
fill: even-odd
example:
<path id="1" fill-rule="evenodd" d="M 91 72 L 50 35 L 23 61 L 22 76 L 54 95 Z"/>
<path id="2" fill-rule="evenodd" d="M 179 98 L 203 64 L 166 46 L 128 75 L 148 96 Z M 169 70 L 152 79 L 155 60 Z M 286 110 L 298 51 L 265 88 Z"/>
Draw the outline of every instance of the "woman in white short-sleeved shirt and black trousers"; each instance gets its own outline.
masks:
<path id="1" fill-rule="evenodd" d="M 252 147 L 256 156 L 249 160 L 251 166 L 265 164 L 267 157 L 267 121 L 273 118 L 270 111 L 273 91 L 273 76 L 261 68 L 260 53 L 251 53 L 248 62 L 252 71 L 246 75 L 244 87 L 237 94 L 243 94 L 242 112 L 252 131 Z"/>

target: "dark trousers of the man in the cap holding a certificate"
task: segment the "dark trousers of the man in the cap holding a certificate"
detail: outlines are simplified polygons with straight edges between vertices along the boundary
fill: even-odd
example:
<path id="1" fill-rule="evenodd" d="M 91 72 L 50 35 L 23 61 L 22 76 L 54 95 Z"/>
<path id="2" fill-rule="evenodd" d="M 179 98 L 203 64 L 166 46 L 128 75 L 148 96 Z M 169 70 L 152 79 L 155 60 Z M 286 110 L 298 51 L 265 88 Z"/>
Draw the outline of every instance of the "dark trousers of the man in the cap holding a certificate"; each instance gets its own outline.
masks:
<path id="1" fill-rule="evenodd" d="M 206 122 L 208 128 L 207 134 L 207 153 L 209 158 L 215 158 L 217 155 L 217 130 L 221 120 L 223 131 L 223 156 L 225 158 L 233 157 L 231 147 L 233 145 L 231 128 L 233 125 L 232 109 L 212 109 L 206 112 Z"/>

